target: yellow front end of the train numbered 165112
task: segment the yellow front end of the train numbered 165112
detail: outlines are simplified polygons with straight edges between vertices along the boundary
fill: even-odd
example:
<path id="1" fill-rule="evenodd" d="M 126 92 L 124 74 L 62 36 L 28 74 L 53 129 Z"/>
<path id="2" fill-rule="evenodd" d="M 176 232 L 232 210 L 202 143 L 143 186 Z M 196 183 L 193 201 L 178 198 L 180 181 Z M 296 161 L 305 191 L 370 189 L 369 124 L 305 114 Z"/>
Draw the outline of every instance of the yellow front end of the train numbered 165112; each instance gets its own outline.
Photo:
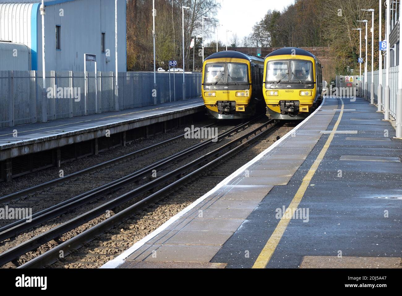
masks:
<path id="1" fill-rule="evenodd" d="M 205 66 L 208 64 L 213 63 L 239 63 L 245 64 L 248 68 L 248 81 L 251 81 L 251 69 L 250 69 L 250 62 L 244 59 L 238 58 L 219 58 L 219 59 L 209 59 L 205 60 L 203 64 L 203 71 L 202 71 L 202 97 L 204 100 L 205 107 L 207 107 L 209 114 L 213 118 L 218 119 L 234 119 L 234 118 L 247 118 L 250 116 L 247 112 L 247 106 L 250 103 L 251 94 L 252 94 L 252 87 L 251 85 L 204 85 L 204 82 L 208 81 L 207 75 L 209 73 L 205 72 Z M 216 80 L 216 79 L 215 79 Z M 219 103 L 224 102 L 224 103 Z M 226 105 L 230 105 L 231 102 L 235 102 L 235 112 L 234 114 L 232 111 L 225 112 Z M 222 106 L 222 104 L 226 104 Z M 233 103 L 232 103 L 233 104 Z M 219 109 L 221 110 L 218 110 Z M 223 110 L 223 111 L 222 111 Z M 220 112 L 219 112 L 220 111 Z"/>

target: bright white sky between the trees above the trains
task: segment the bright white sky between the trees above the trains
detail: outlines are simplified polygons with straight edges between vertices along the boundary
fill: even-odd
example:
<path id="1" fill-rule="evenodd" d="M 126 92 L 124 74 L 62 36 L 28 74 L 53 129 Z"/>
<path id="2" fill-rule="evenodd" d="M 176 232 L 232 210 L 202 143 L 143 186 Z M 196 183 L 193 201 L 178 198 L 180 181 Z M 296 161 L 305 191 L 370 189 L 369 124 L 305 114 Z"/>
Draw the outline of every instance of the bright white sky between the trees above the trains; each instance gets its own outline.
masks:
<path id="1" fill-rule="evenodd" d="M 232 31 L 228 33 L 229 41 L 231 34 L 235 32 L 241 41 L 244 36 L 252 32 L 252 27 L 269 9 L 282 11 L 283 8 L 293 4 L 294 0 L 217 0 L 217 2 L 220 2 L 221 9 L 216 18 L 223 25 L 219 29 L 219 39 L 226 43 L 226 29 Z"/>

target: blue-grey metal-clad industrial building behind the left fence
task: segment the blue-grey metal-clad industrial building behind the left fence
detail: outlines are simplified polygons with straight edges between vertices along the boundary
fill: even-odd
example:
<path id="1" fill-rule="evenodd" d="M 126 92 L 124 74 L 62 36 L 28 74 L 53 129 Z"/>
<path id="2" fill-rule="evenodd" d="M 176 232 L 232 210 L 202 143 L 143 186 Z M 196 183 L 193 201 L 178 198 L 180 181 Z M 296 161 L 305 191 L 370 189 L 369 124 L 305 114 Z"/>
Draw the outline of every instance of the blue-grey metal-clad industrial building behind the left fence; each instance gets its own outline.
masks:
<path id="1" fill-rule="evenodd" d="M 40 0 L 0 0 L 0 70 L 42 70 L 40 6 Z M 118 0 L 119 71 L 127 68 L 126 44 L 126 2 Z M 29 48 L 28 58 L 22 45 Z M 46 70 L 83 71 L 84 54 L 96 54 L 98 71 L 115 70 L 115 1 L 45 1 Z M 87 70 L 94 70 L 93 63 Z"/>

